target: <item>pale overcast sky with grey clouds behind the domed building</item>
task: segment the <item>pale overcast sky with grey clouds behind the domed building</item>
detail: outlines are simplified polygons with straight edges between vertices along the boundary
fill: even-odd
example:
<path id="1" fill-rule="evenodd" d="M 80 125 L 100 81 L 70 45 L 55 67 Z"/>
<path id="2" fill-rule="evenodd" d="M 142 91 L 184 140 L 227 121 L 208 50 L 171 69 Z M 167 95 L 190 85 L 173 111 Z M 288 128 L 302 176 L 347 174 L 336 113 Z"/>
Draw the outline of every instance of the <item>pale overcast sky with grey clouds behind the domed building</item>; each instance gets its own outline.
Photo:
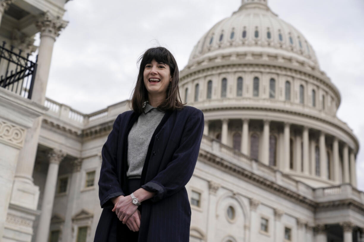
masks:
<path id="1" fill-rule="evenodd" d="M 179 69 L 202 35 L 232 15 L 241 0 L 73 0 L 70 21 L 58 37 L 46 96 L 83 113 L 130 98 L 137 59 L 162 45 Z M 274 13 L 310 42 L 341 93 L 337 116 L 364 145 L 364 1 L 268 0 Z M 38 41 L 37 41 L 38 42 Z M 364 152 L 357 156 L 358 187 L 364 190 Z"/>

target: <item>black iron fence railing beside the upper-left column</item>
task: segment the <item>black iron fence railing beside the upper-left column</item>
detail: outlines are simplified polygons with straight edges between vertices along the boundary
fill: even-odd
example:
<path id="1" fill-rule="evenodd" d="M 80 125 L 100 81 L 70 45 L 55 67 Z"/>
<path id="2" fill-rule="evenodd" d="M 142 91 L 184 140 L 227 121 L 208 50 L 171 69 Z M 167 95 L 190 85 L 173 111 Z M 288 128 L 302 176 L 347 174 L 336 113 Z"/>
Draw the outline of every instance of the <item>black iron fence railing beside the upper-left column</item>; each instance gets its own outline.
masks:
<path id="1" fill-rule="evenodd" d="M 0 87 L 31 99 L 37 61 L 29 60 L 29 54 L 21 56 L 22 50 L 18 54 L 13 52 L 13 46 L 6 49 L 5 44 L 4 41 L 0 46 Z"/>

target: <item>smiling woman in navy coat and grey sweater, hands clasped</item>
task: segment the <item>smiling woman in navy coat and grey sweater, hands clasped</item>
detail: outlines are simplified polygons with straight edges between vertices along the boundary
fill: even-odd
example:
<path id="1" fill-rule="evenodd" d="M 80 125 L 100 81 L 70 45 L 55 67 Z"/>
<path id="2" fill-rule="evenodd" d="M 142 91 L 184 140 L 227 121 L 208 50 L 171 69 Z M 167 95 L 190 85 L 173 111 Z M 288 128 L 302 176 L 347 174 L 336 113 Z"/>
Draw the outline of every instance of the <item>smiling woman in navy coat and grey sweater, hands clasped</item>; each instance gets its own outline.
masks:
<path id="1" fill-rule="evenodd" d="M 186 183 L 198 157 L 203 113 L 181 102 L 178 66 L 163 47 L 140 61 L 131 111 L 119 114 L 102 148 L 95 242 L 187 242 Z"/>

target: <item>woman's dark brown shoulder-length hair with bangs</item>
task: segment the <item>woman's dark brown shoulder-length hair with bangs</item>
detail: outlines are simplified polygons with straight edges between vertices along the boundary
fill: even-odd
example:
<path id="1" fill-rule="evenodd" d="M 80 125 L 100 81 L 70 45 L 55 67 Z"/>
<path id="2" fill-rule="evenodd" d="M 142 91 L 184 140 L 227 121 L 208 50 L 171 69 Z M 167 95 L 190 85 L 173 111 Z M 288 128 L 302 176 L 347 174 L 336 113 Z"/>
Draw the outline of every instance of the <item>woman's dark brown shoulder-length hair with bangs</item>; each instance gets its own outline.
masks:
<path id="1" fill-rule="evenodd" d="M 163 111 L 173 111 L 175 109 L 182 109 L 183 105 L 181 101 L 181 96 L 179 95 L 178 89 L 178 66 L 177 62 L 174 59 L 173 55 L 169 50 L 164 47 L 155 47 L 148 49 L 141 57 L 138 59 L 138 63 L 140 63 L 139 74 L 137 79 L 137 84 L 135 85 L 133 95 L 131 97 L 131 109 L 136 113 L 140 114 L 143 112 L 143 104 L 148 101 L 148 91 L 144 85 L 144 68 L 146 64 L 152 62 L 152 60 L 157 62 L 164 63 L 169 66 L 172 81 L 169 83 L 167 87 L 167 95 L 166 100 L 164 100 L 158 108 Z"/>

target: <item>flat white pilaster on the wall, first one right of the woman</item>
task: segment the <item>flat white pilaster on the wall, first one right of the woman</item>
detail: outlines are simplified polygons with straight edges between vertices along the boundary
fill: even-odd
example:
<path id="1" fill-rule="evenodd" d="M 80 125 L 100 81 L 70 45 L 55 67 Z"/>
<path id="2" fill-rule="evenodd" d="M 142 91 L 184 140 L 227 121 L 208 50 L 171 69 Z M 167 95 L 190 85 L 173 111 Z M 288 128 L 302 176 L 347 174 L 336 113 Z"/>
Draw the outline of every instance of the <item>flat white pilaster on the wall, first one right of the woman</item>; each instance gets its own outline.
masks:
<path id="1" fill-rule="evenodd" d="M 207 214 L 207 239 L 206 241 L 214 241 L 216 231 L 216 193 L 220 188 L 220 184 L 214 181 L 209 182 L 209 213 Z"/>

